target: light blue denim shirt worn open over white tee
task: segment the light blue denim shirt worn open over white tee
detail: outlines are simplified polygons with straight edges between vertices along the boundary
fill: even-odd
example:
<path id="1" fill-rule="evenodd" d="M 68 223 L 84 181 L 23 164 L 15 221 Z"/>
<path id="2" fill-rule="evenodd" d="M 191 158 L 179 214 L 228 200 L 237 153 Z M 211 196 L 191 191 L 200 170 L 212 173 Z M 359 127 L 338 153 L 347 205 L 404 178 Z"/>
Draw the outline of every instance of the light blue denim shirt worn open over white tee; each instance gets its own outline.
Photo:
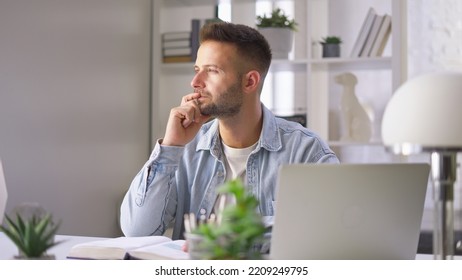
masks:
<path id="1" fill-rule="evenodd" d="M 336 155 L 315 133 L 277 118 L 263 105 L 259 142 L 247 161 L 246 186 L 259 200 L 263 216 L 274 215 L 279 166 L 285 163 L 338 163 Z M 225 162 L 218 121 L 202 126 L 184 147 L 154 147 L 133 179 L 121 206 L 126 236 L 161 235 L 173 223 L 173 239 L 183 238 L 183 216 L 208 216 L 216 189 L 225 181 Z"/>

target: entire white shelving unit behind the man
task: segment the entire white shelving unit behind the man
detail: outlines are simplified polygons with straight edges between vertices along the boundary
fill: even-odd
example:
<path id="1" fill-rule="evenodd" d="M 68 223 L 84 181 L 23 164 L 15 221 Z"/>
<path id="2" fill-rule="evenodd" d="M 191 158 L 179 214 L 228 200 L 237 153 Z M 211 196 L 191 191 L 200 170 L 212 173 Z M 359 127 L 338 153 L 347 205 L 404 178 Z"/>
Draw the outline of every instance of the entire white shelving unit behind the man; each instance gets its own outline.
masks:
<path id="1" fill-rule="evenodd" d="M 190 92 L 192 63 L 160 63 L 160 34 L 189 28 L 192 18 L 210 18 L 214 0 L 176 0 L 154 2 L 153 30 L 153 139 L 159 137 L 171 107 L 182 95 Z M 255 24 L 256 3 L 265 0 L 232 0 L 231 21 Z M 406 80 L 406 2 L 402 0 L 279 0 L 269 1 L 287 5 L 293 3 L 293 15 L 299 23 L 295 34 L 294 51 L 289 60 L 274 60 L 265 83 L 266 104 L 276 114 L 306 114 L 308 127 L 329 141 L 336 149 L 358 146 L 381 146 L 380 122 L 383 110 L 393 91 Z M 289 4 L 290 5 L 290 4 Z M 351 58 L 352 46 L 369 7 L 378 14 L 392 15 L 392 33 L 383 57 Z M 169 22 L 170 21 L 170 22 Z M 173 25 L 173 22 L 175 24 Z M 176 29 L 175 29 L 176 28 Z M 340 58 L 314 56 L 315 42 L 327 35 L 343 39 Z M 156 41 L 157 40 L 157 41 Z M 159 67 L 160 65 L 160 67 Z M 367 143 L 339 141 L 341 125 L 338 102 L 340 85 L 333 77 L 352 72 L 358 77 L 356 95 L 368 103 L 374 112 L 374 134 Z M 269 93 L 268 93 L 269 91 Z M 290 108 L 278 107 L 287 103 Z M 286 105 L 287 106 L 287 105 Z M 156 110 L 157 108 L 157 110 Z"/>

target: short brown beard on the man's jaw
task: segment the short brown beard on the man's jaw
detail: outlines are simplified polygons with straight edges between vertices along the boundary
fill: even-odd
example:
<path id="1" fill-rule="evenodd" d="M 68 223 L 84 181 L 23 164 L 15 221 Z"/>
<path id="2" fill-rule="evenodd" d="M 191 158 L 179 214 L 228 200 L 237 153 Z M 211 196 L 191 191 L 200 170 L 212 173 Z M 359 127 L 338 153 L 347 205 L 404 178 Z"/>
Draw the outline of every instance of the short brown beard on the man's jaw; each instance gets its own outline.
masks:
<path id="1" fill-rule="evenodd" d="M 241 111 L 242 103 L 244 102 L 240 86 L 240 83 L 237 82 L 222 92 L 215 102 L 200 104 L 201 113 L 215 118 L 227 118 L 237 115 Z"/>

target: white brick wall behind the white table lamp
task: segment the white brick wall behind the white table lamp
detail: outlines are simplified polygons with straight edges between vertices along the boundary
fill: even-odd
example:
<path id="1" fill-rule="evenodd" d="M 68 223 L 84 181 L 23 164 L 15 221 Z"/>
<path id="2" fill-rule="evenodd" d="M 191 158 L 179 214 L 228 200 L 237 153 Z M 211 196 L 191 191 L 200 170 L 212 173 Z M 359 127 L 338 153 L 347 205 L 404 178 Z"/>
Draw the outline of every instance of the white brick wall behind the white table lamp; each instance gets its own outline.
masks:
<path id="1" fill-rule="evenodd" d="M 462 71 L 462 1 L 408 0 L 409 78 L 434 71 Z M 427 155 L 429 158 L 429 156 Z M 462 153 L 455 183 L 455 227 L 462 229 Z M 432 189 L 427 208 L 433 205 Z M 428 224 L 431 225 L 430 222 Z"/>

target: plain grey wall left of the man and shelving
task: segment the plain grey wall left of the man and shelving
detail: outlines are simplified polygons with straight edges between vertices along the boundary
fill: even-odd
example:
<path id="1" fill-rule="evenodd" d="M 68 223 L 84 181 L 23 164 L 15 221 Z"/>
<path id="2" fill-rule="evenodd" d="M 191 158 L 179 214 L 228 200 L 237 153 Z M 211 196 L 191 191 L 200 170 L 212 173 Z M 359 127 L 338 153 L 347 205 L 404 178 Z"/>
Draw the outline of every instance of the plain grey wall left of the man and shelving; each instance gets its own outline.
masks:
<path id="1" fill-rule="evenodd" d="M 120 234 L 149 155 L 150 0 L 0 0 L 7 211 L 38 202 L 61 234 Z"/>

